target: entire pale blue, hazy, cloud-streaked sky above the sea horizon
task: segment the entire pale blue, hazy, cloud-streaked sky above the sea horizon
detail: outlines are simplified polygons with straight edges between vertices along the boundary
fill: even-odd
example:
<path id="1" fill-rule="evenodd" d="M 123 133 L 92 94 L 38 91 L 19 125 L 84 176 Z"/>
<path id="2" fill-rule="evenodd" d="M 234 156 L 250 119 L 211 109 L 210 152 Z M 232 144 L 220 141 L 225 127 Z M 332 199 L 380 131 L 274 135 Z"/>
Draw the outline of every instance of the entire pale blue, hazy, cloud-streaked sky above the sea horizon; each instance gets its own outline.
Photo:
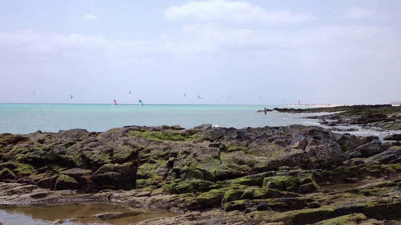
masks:
<path id="1" fill-rule="evenodd" d="M 395 0 L 4 1 L 0 102 L 388 104 L 401 100 L 400 8 Z"/>

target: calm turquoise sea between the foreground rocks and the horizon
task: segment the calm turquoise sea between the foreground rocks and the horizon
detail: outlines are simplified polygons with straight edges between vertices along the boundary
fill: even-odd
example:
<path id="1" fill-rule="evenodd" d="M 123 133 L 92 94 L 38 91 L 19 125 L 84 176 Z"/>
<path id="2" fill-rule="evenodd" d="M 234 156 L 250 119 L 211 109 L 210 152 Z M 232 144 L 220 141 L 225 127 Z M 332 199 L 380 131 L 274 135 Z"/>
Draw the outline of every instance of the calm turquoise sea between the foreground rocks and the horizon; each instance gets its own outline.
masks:
<path id="1" fill-rule="evenodd" d="M 264 115 L 263 112 L 256 112 L 263 110 L 264 107 L 289 108 L 289 106 L 273 105 L 0 104 L 0 133 L 25 134 L 38 130 L 58 132 L 74 128 L 107 131 L 128 125 L 180 125 L 192 128 L 204 123 L 238 129 L 292 124 L 326 127 L 317 123 L 315 119 L 302 119 L 302 117 L 328 113 L 267 112 L 267 115 Z M 308 108 L 308 106 L 293 108 Z M 349 133 L 362 136 L 385 135 L 383 132 L 370 130 Z"/>

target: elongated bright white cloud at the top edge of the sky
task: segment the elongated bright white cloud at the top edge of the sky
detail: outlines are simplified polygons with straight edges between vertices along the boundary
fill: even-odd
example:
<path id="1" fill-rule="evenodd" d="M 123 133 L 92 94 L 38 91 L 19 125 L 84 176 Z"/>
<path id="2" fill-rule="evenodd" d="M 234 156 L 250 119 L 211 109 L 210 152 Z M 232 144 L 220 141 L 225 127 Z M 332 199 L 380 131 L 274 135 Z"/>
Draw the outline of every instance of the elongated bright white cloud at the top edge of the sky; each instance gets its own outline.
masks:
<path id="1" fill-rule="evenodd" d="M 248 2 L 227 0 L 191 1 L 181 6 L 170 6 L 165 10 L 165 17 L 168 20 L 192 18 L 199 21 L 225 20 L 267 24 L 306 22 L 316 19 L 309 13 L 296 14 L 290 10 L 267 12 L 264 8 L 252 6 Z"/>

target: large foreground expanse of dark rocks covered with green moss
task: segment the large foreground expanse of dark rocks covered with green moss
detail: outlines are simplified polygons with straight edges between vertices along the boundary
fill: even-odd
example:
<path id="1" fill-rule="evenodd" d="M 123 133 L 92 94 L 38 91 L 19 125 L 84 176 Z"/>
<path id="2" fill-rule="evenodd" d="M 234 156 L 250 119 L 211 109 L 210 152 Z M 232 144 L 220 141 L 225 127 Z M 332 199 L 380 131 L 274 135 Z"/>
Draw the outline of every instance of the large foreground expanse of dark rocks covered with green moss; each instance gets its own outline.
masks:
<path id="1" fill-rule="evenodd" d="M 184 213 L 141 225 L 401 224 L 401 143 L 302 125 L 1 134 L 0 204 L 61 202 Z"/>

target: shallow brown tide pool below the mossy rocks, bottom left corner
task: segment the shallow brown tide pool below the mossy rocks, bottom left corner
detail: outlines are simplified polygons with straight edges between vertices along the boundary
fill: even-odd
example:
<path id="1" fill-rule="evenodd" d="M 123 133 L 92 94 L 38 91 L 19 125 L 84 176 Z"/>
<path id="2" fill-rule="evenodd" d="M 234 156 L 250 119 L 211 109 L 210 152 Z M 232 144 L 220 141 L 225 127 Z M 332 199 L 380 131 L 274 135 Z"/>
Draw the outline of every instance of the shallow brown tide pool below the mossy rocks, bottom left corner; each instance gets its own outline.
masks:
<path id="1" fill-rule="evenodd" d="M 108 213 L 108 214 L 106 214 Z M 97 215 L 97 216 L 96 216 Z M 107 215 L 107 216 L 105 216 Z M 6 224 L 128 225 L 146 219 L 181 215 L 162 209 L 129 208 L 110 203 L 65 203 L 56 205 L 0 205 L 1 222 Z"/>

